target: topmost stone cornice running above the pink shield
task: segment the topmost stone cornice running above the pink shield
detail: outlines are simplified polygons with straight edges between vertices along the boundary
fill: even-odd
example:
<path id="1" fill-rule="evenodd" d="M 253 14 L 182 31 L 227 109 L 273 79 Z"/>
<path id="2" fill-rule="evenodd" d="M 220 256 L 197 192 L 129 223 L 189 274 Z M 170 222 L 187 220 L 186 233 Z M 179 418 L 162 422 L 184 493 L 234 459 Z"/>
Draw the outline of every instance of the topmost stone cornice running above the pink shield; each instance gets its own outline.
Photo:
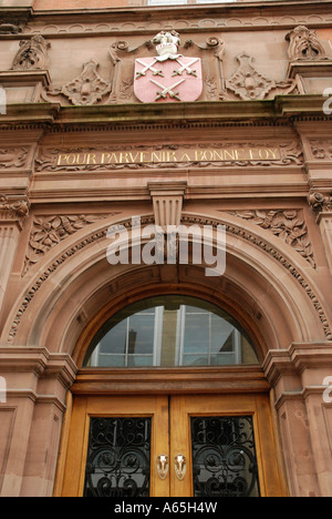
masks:
<path id="1" fill-rule="evenodd" d="M 308 28 L 331 26 L 331 0 L 325 1 L 259 1 L 227 3 L 219 6 L 158 6 L 106 9 L 68 9 L 35 11 L 32 8 L 0 8 L 1 17 L 12 23 L 13 30 L 0 33 L 0 39 L 24 39 L 29 34 L 43 34 L 48 38 L 93 38 L 95 35 L 149 35 L 155 24 L 162 20 L 184 20 L 177 27 L 183 33 L 207 33 L 214 30 L 224 32 L 291 30 L 297 24 Z M 9 12 L 10 11 L 10 12 Z M 9 13 L 9 14 L 8 14 Z M 29 24 L 25 27 L 27 21 Z M 131 23 L 133 21 L 133 23 Z M 129 22 L 129 23 L 128 23 Z M 77 24 L 82 27 L 77 30 Z M 24 31 L 22 28 L 24 28 Z M 75 27 L 75 30 L 72 28 Z"/>

